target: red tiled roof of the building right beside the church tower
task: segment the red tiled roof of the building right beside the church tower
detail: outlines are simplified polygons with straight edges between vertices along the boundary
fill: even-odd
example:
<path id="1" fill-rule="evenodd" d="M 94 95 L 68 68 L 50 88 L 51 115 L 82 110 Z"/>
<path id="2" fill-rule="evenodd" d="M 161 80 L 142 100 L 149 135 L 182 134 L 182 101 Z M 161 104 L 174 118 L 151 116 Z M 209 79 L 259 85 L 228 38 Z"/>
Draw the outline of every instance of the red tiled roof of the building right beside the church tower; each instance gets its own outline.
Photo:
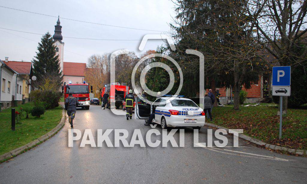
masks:
<path id="1" fill-rule="evenodd" d="M 85 76 L 86 63 L 64 62 L 63 75 Z"/>

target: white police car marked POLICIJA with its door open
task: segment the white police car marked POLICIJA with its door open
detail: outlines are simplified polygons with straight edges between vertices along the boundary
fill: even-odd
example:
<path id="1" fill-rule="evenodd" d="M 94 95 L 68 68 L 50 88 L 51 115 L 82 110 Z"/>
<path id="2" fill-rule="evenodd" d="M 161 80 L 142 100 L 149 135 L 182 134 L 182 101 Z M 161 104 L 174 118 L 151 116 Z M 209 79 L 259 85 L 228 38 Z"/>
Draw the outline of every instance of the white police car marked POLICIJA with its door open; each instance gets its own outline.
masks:
<path id="1" fill-rule="evenodd" d="M 147 119 L 155 113 L 153 123 L 162 128 L 192 127 L 200 129 L 205 124 L 205 112 L 192 100 L 182 96 L 164 95 L 153 104 L 142 96 L 138 96 L 135 105 L 135 119 Z"/>

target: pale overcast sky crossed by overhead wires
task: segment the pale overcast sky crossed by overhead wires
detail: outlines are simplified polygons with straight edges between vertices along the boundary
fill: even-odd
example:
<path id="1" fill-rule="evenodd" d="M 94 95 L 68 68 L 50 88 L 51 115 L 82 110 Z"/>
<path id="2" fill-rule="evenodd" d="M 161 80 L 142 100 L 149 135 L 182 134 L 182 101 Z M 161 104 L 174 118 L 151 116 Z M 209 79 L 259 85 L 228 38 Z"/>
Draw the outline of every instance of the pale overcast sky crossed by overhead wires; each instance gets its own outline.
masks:
<path id="1" fill-rule="evenodd" d="M 162 40 L 150 40 L 143 51 L 138 50 L 141 41 L 81 40 L 67 37 L 93 39 L 141 40 L 146 34 L 161 34 L 170 31 L 169 23 L 176 15 L 174 3 L 170 0 L 129 0 L 129 1 L 33 1 L 0 0 L 0 6 L 25 10 L 46 15 L 60 15 L 64 42 L 64 62 L 86 63 L 93 54 L 128 49 L 138 56 L 146 50 L 155 50 L 165 44 Z M 0 7 L 0 59 L 10 61 L 31 61 L 36 55 L 41 35 L 49 31 L 54 34 L 57 17 L 38 15 Z M 105 25 L 71 21 L 67 19 L 95 22 L 100 24 L 130 27 L 145 31 Z M 21 33 L 12 30 L 30 32 Z M 161 32 L 163 31 L 163 32 Z"/>

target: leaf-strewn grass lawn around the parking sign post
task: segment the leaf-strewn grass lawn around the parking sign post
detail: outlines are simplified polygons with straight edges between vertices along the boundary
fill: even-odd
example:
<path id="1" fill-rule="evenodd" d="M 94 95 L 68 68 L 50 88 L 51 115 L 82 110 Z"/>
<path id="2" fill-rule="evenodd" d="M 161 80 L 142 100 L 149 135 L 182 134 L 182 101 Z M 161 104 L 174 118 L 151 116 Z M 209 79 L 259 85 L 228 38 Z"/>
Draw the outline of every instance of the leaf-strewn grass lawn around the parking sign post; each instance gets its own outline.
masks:
<path id="1" fill-rule="evenodd" d="M 273 105 L 273 104 L 260 104 Z M 282 117 L 282 140 L 279 136 L 278 106 L 214 107 L 213 124 L 231 129 L 243 129 L 243 133 L 269 144 L 307 150 L 307 107 L 289 109 Z"/>

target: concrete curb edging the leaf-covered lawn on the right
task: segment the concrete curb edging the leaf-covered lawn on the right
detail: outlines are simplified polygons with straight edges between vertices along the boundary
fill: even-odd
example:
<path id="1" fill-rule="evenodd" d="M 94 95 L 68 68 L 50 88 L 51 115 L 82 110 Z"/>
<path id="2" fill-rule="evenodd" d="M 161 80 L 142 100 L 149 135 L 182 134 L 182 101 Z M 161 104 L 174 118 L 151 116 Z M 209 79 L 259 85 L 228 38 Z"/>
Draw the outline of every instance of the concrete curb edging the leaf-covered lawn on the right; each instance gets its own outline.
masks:
<path id="1" fill-rule="evenodd" d="M 213 127 L 213 128 L 225 129 L 225 130 L 227 130 L 227 132 L 229 132 L 228 128 L 225 128 L 225 127 L 222 127 L 222 126 L 218 126 L 218 125 L 215 125 L 215 124 L 212 124 L 212 123 L 206 123 L 205 122 L 205 125 Z M 290 148 L 286 148 L 286 147 L 281 147 L 281 146 L 276 146 L 276 145 L 272 145 L 272 144 L 267 144 L 267 143 L 265 143 L 265 142 L 263 142 L 261 140 L 252 138 L 252 137 L 247 136 L 245 134 L 239 134 L 239 137 L 241 139 L 247 140 L 247 141 L 249 141 L 251 143 L 258 144 L 260 146 L 264 146 L 264 147 L 272 149 L 272 150 L 287 151 L 289 153 L 297 154 L 297 155 L 307 155 L 307 150 L 290 149 Z"/>

